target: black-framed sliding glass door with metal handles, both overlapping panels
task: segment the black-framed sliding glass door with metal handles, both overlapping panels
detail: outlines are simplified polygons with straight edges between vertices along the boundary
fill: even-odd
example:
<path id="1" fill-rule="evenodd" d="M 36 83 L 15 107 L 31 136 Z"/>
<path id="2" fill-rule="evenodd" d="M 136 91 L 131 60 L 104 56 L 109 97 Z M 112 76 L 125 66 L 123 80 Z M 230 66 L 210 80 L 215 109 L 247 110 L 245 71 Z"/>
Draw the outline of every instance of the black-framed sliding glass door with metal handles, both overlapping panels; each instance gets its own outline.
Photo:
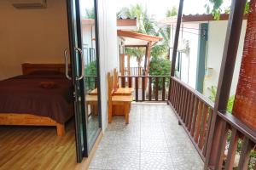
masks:
<path id="1" fill-rule="evenodd" d="M 94 0 L 67 0 L 72 68 L 67 77 L 73 80 L 78 162 L 89 155 L 102 127 L 96 14 Z"/>

